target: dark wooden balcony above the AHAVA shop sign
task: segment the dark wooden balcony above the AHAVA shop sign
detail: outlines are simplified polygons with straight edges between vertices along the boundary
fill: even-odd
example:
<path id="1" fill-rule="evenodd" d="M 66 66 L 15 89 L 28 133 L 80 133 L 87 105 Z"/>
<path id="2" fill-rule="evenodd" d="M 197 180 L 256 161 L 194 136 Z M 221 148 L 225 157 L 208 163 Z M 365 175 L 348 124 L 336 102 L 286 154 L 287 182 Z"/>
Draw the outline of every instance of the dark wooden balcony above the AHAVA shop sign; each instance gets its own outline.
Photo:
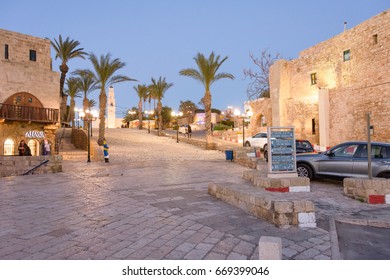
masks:
<path id="1" fill-rule="evenodd" d="M 56 123 L 59 110 L 0 103 L 0 120 Z"/>

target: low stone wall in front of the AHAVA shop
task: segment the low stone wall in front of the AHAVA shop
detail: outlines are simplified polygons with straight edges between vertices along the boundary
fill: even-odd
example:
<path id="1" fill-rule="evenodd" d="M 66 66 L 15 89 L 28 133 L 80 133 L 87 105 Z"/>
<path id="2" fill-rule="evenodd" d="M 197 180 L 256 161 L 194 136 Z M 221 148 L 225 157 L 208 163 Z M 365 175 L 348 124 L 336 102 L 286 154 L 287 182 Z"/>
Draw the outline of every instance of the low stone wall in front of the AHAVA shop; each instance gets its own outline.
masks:
<path id="1" fill-rule="evenodd" d="M 62 156 L 0 156 L 0 177 L 23 175 L 28 170 L 49 160 L 33 171 L 33 173 L 62 172 Z"/>

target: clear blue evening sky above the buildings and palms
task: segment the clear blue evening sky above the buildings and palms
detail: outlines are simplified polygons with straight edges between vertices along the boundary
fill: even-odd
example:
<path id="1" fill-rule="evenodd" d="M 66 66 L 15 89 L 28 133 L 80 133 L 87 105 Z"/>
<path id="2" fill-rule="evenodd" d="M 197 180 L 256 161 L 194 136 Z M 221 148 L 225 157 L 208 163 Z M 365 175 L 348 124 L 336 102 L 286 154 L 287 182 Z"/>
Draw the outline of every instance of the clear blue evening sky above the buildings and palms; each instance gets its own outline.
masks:
<path id="1" fill-rule="evenodd" d="M 69 36 L 87 52 L 111 53 L 125 62 L 118 73 L 139 83 L 166 77 L 174 86 L 163 105 L 174 110 L 180 101 L 198 105 L 204 94 L 200 82 L 179 71 L 196 68 L 198 52 L 208 56 L 214 51 L 228 56 L 220 71 L 235 80 L 213 84 L 212 107 L 242 110 L 249 83 L 243 69 L 255 69 L 250 53 L 268 49 L 294 59 L 301 50 L 341 33 L 344 21 L 351 28 L 389 8 L 390 0 L 15 0 L 2 1 L 0 28 L 49 39 Z M 59 71 L 54 55 L 53 70 Z M 69 67 L 71 72 L 91 68 L 91 63 L 74 59 Z M 114 85 L 118 117 L 137 106 L 137 84 Z M 97 96 L 90 98 L 98 101 Z"/>

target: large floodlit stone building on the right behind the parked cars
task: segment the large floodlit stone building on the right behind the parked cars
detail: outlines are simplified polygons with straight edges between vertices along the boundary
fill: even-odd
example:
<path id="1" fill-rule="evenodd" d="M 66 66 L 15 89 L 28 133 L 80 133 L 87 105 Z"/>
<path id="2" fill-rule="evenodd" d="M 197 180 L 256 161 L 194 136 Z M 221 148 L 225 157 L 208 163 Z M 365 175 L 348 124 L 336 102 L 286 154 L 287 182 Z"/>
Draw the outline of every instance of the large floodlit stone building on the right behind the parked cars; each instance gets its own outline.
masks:
<path id="1" fill-rule="evenodd" d="M 321 150 L 348 140 L 390 141 L 390 10 L 270 69 L 267 125 L 294 126 Z M 261 101 L 257 101 L 257 103 Z M 252 107 L 259 107 L 256 102 Z M 269 107 L 267 107 L 269 106 Z M 266 115 L 260 108 L 254 117 Z"/>

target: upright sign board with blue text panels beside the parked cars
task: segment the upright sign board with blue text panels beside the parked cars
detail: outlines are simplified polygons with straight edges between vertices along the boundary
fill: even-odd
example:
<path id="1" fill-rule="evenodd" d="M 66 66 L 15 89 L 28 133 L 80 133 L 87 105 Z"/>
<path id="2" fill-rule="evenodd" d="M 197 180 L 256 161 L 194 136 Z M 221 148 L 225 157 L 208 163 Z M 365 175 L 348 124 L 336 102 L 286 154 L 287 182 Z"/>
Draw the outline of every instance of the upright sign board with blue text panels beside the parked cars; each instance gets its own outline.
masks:
<path id="1" fill-rule="evenodd" d="M 268 173 L 296 173 L 294 127 L 268 127 Z"/>

